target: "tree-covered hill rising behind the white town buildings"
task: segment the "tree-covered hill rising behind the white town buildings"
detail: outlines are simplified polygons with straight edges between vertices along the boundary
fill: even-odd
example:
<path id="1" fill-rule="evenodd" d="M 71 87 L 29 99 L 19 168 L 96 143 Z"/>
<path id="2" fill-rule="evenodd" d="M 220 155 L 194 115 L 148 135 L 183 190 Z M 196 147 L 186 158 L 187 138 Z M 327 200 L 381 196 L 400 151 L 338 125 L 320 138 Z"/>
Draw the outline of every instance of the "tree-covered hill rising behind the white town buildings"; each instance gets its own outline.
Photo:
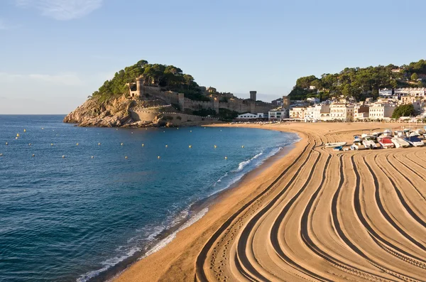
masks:
<path id="1" fill-rule="evenodd" d="M 339 73 L 321 77 L 300 77 L 289 96 L 294 100 L 307 97 L 324 100 L 341 94 L 356 99 L 376 97 L 381 88 L 424 87 L 424 81 L 417 81 L 418 75 L 426 75 L 426 60 L 402 66 L 346 67 Z"/>

